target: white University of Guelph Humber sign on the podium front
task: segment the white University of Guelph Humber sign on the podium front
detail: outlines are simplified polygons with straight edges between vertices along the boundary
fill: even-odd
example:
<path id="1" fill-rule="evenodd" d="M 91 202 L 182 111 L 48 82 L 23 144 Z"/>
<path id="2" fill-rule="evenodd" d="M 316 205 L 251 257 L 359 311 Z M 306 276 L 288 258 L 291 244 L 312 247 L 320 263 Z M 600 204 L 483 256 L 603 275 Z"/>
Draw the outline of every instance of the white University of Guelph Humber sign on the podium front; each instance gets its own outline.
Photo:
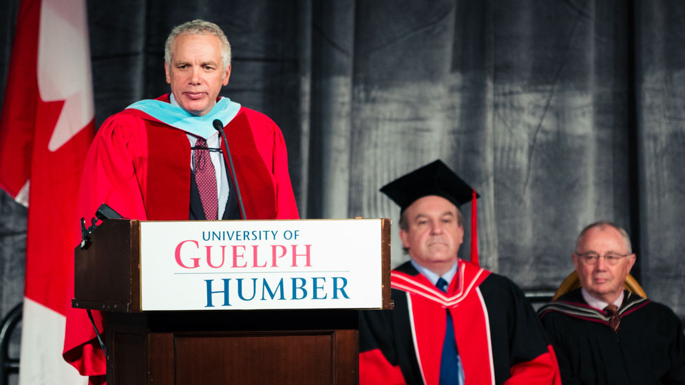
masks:
<path id="1" fill-rule="evenodd" d="M 382 221 L 140 221 L 141 310 L 381 309 Z"/>

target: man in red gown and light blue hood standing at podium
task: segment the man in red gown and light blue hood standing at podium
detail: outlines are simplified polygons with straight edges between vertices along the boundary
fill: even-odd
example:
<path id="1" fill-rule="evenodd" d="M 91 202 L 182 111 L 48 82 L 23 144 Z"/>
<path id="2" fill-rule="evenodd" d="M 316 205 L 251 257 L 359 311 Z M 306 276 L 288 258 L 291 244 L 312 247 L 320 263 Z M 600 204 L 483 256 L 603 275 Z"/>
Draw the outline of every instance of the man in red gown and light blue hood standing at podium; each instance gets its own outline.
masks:
<path id="1" fill-rule="evenodd" d="M 231 75 L 231 46 L 218 25 L 193 20 L 173 28 L 164 67 L 170 94 L 131 104 L 98 130 L 78 218 L 89 221 L 107 203 L 140 220 L 298 219 L 279 127 L 218 96 Z M 105 358 L 85 310 L 67 309 L 65 360 L 92 384 L 104 382 Z M 100 314 L 95 321 L 102 331 Z"/>

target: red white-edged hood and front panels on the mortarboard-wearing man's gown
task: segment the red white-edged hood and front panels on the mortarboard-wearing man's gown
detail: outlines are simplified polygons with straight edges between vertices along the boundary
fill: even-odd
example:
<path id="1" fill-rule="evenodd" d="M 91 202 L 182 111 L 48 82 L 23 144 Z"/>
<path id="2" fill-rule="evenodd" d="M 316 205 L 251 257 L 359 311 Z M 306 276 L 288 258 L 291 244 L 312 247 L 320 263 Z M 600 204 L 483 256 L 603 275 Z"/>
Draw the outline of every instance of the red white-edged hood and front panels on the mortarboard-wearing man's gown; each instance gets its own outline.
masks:
<path id="1" fill-rule="evenodd" d="M 450 310 L 454 320 L 457 349 L 468 352 L 461 354 L 467 382 L 492 384 L 494 366 L 489 318 L 478 289 L 490 272 L 461 259 L 458 261 L 459 267 L 447 294 L 432 285 L 423 274 L 410 276 L 393 271 L 391 286 L 407 294 L 414 349 L 425 384 L 439 382 L 447 322 L 445 309 Z"/>

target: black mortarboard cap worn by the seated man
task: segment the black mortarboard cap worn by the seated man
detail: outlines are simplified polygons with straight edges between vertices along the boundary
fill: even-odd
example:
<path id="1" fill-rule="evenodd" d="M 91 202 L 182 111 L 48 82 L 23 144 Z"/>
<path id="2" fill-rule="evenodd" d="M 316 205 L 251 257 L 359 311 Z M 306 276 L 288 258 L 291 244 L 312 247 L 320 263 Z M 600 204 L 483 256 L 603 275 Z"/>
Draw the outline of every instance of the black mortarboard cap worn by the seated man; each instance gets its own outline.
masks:
<path id="1" fill-rule="evenodd" d="M 443 197 L 457 207 L 473 197 L 473 188 L 440 159 L 391 181 L 381 188 L 381 192 L 397 203 L 401 212 L 428 195 Z"/>

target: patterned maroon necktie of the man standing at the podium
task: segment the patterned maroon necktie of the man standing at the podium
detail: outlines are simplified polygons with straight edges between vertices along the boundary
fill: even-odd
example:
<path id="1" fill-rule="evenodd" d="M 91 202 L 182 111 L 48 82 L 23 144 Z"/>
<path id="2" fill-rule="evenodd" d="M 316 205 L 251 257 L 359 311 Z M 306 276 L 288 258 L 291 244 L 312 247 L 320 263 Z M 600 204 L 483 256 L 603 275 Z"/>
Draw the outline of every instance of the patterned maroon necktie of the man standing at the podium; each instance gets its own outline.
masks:
<path id="1" fill-rule="evenodd" d="M 195 181 L 200 190 L 200 201 L 204 209 L 204 217 L 216 220 L 218 213 L 218 197 L 216 192 L 216 173 L 214 165 L 209 158 L 207 140 L 198 138 L 193 153 L 193 166 L 195 167 Z"/>

